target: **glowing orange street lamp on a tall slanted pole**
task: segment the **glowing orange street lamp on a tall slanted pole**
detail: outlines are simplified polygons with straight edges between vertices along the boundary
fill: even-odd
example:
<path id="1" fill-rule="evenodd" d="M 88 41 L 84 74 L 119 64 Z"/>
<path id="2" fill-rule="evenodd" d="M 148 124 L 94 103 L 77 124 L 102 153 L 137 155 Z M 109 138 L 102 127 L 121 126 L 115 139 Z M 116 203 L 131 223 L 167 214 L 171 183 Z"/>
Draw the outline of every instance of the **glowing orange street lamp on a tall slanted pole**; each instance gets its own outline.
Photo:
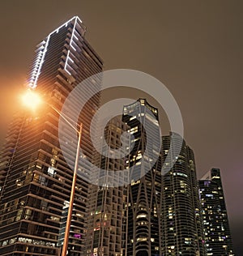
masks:
<path id="1" fill-rule="evenodd" d="M 23 100 L 23 104 L 32 110 L 36 109 L 36 106 L 40 105 L 42 101 L 40 99 L 40 96 L 38 96 L 38 94 L 36 94 L 32 90 L 28 90 L 28 92 L 25 95 L 23 95 L 22 100 Z M 72 186 L 70 191 L 70 203 L 69 203 L 67 219 L 66 219 L 65 236 L 64 236 L 64 241 L 62 245 L 62 256 L 66 256 L 69 234 L 70 234 L 70 223 L 71 223 L 71 217 L 72 217 L 74 201 L 75 201 L 75 186 L 76 186 L 77 173 L 79 168 L 79 152 L 80 152 L 80 142 L 81 142 L 83 124 L 81 123 L 79 126 L 79 130 L 77 130 L 76 127 L 72 125 L 68 121 L 68 119 L 58 109 L 56 109 L 55 107 L 53 107 L 53 105 L 50 105 L 49 103 L 46 103 L 46 104 L 48 104 L 55 112 L 57 112 L 60 115 L 60 117 L 62 117 L 79 134 L 79 139 L 78 139 L 78 144 L 76 149 L 76 156 L 75 156 L 75 169 L 74 169 Z"/>

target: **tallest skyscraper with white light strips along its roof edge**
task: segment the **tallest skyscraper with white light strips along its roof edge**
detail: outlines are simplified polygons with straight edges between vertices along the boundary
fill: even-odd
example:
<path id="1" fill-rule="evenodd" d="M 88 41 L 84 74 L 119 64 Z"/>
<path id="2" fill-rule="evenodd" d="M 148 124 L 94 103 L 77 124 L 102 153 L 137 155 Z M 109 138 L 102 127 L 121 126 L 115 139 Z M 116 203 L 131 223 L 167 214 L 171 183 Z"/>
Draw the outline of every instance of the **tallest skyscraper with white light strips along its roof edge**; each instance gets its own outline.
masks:
<path id="1" fill-rule="evenodd" d="M 73 171 L 60 150 L 57 111 L 78 83 L 99 73 L 103 66 L 84 33 L 82 21 L 75 16 L 36 46 L 28 87 L 48 104 L 36 113 L 18 113 L 6 137 L 0 166 L 2 256 L 59 255 L 62 250 Z M 100 89 L 100 83 L 94 81 L 92 88 Z M 99 102 L 100 96 L 93 96 L 79 116 L 83 153 L 91 161 L 89 124 Z M 69 138 L 66 133 L 66 148 L 72 147 Z M 70 151 L 70 158 L 75 158 L 75 151 Z M 78 177 L 68 249 L 71 255 L 80 255 L 83 248 L 87 191 L 87 181 Z"/>

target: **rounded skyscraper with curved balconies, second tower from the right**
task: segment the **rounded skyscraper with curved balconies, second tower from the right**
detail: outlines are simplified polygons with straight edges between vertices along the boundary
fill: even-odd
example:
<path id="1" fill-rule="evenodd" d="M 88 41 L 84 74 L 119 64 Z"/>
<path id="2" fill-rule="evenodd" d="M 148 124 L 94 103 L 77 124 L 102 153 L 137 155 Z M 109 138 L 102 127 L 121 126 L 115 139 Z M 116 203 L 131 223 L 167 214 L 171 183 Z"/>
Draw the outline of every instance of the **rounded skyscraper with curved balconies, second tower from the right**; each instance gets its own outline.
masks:
<path id="1" fill-rule="evenodd" d="M 181 152 L 173 156 L 181 140 Z M 163 255 L 205 255 L 194 153 L 175 133 L 162 137 L 162 149 L 163 164 L 176 158 L 173 168 L 162 177 Z"/>

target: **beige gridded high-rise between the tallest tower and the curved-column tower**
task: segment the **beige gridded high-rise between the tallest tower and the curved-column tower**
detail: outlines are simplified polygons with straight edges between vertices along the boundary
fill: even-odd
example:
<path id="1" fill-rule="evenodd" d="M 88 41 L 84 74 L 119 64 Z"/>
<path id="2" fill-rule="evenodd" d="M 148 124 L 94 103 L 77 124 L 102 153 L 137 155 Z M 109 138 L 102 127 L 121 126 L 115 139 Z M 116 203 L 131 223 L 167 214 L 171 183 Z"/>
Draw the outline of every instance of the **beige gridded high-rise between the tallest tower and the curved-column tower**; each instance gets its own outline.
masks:
<path id="1" fill-rule="evenodd" d="M 96 166 L 100 171 L 98 179 L 103 186 L 90 186 L 88 223 L 86 236 L 87 256 L 126 256 L 127 227 L 127 186 L 118 184 L 127 181 L 126 162 L 122 157 L 111 158 L 111 151 L 129 147 L 130 139 L 121 141 L 123 131 L 128 130 L 121 118 L 115 117 L 105 127 L 101 155 L 96 156 Z M 108 149 L 110 147 L 110 150 Z M 124 152 L 122 152 L 124 153 Z M 117 175 L 116 173 L 122 172 Z M 120 180 L 120 181 L 119 181 Z M 117 186 L 116 186 L 117 184 Z M 114 185 L 114 186 L 112 186 Z"/>

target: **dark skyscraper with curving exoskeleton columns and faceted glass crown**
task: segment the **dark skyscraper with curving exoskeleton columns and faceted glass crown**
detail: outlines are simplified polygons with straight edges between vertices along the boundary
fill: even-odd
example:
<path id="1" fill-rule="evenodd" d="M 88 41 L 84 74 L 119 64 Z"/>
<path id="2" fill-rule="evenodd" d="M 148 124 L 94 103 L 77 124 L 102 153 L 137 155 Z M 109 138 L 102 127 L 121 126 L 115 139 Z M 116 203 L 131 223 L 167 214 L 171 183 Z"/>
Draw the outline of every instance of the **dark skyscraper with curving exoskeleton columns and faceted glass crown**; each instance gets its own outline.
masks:
<path id="1" fill-rule="evenodd" d="M 127 163 L 131 180 L 128 186 L 127 255 L 161 255 L 161 156 L 158 110 L 139 99 L 123 109 L 122 121 L 133 135 Z M 147 140 L 148 134 L 153 134 Z M 148 152 L 146 152 L 148 149 Z M 142 160 L 143 157 L 143 160 Z M 158 158 L 155 164 L 151 164 Z"/>

